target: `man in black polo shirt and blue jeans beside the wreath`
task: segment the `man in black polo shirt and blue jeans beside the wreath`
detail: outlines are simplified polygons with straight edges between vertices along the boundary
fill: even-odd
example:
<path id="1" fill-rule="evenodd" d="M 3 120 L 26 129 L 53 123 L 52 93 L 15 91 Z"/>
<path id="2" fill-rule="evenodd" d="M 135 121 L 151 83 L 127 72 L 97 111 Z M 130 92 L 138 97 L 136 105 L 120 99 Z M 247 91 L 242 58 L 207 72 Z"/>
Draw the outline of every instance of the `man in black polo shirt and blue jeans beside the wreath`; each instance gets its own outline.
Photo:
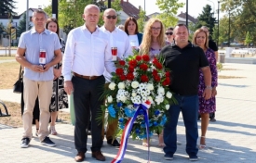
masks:
<path id="1" fill-rule="evenodd" d="M 198 138 L 198 83 L 199 69 L 204 74 L 205 85 L 207 85 L 204 96 L 211 96 L 211 74 L 209 63 L 204 51 L 188 42 L 188 30 L 185 25 L 179 24 L 174 28 L 174 43 L 165 46 L 161 54 L 165 57 L 165 67 L 171 70 L 171 84 L 169 89 L 174 93 L 178 104 L 168 109 L 168 122 L 164 129 L 165 159 L 173 159 L 177 149 L 177 123 L 180 111 L 186 128 L 186 153 L 190 160 L 197 160 L 198 149 L 196 141 Z"/>

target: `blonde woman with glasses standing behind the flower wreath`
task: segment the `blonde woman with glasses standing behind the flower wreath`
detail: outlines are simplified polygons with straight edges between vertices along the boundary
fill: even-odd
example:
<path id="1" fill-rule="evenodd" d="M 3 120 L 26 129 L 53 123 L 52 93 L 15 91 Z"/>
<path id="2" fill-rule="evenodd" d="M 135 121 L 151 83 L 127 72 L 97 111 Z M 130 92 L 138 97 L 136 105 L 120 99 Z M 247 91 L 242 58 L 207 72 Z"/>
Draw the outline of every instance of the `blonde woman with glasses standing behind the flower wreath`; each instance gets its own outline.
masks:
<path id="1" fill-rule="evenodd" d="M 165 39 L 165 27 L 160 19 L 149 19 L 145 25 L 140 54 L 148 54 L 151 60 L 159 55 L 161 49 L 166 46 L 168 41 Z M 159 146 L 164 147 L 163 132 L 158 135 Z M 143 146 L 148 146 L 147 140 L 143 139 Z"/>

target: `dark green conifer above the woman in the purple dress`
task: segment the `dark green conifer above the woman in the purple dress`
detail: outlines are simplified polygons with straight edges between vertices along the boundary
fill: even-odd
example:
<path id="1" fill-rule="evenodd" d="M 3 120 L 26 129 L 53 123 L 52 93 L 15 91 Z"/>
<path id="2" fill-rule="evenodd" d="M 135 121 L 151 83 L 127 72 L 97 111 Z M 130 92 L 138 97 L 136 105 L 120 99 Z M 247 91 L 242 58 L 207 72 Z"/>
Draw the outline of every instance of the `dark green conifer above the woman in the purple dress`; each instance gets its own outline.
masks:
<path id="1" fill-rule="evenodd" d="M 209 35 L 212 35 L 214 24 L 216 22 L 216 19 L 213 16 L 214 13 L 211 12 L 211 6 L 204 6 L 202 14 L 199 14 L 197 17 L 197 29 L 201 28 L 202 26 L 207 26 L 209 28 Z"/>

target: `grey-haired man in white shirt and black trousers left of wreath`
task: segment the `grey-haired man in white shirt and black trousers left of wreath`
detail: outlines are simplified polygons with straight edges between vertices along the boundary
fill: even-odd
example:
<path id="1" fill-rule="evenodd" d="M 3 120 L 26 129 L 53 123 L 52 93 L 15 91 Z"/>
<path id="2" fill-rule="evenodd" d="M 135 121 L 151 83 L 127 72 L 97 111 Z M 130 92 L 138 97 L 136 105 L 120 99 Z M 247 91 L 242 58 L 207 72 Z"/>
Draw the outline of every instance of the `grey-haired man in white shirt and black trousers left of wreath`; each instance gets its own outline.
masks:
<path id="1" fill-rule="evenodd" d="M 101 153 L 101 130 L 97 116 L 101 113 L 100 100 L 103 93 L 105 78 L 104 69 L 115 71 L 112 62 L 109 37 L 98 27 L 100 9 L 95 5 L 85 7 L 83 18 L 85 24 L 70 31 L 63 56 L 62 74 L 64 89 L 67 94 L 74 91 L 74 146 L 77 155 L 74 160 L 81 162 L 85 159 L 88 143 L 88 121 L 91 113 L 91 155 L 97 160 L 105 161 Z M 73 78 L 71 75 L 73 71 Z"/>

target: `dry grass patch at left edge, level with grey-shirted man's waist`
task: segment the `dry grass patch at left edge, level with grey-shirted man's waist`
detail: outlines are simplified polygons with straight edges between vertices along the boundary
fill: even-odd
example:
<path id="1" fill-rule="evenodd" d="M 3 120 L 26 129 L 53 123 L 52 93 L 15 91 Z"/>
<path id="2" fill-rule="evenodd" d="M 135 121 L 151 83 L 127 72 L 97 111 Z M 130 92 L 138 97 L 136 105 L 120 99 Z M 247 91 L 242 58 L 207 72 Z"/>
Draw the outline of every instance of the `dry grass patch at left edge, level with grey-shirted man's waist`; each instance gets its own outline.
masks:
<path id="1" fill-rule="evenodd" d="M 6 62 L 0 64 L 0 89 L 10 89 L 18 80 L 20 64 L 18 62 Z"/>

